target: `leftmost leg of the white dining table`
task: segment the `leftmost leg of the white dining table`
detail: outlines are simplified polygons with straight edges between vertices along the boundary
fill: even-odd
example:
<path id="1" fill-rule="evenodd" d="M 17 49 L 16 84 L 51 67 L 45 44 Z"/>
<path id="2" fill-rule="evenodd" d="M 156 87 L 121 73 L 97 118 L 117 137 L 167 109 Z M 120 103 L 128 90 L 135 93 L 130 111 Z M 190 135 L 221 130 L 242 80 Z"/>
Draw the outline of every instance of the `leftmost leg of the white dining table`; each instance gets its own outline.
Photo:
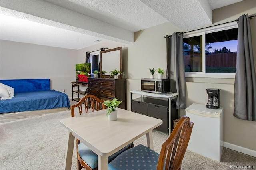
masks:
<path id="1" fill-rule="evenodd" d="M 75 141 L 75 136 L 73 136 L 72 133 L 69 132 L 68 146 L 67 146 L 67 150 L 66 150 L 65 163 L 64 163 L 65 170 L 71 170 L 73 150 L 74 150 L 74 141 Z"/>

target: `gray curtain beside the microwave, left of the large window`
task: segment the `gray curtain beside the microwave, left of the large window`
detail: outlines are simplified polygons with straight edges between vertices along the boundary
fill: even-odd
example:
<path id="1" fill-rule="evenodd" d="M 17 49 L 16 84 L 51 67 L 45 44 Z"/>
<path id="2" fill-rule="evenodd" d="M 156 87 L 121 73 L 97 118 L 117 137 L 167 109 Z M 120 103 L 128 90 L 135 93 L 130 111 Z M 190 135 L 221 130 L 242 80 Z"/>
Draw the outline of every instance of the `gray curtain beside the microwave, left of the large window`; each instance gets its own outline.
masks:
<path id="1" fill-rule="evenodd" d="M 182 33 L 166 35 L 167 78 L 170 79 L 170 91 L 178 93 L 176 109 L 185 109 L 185 72 Z"/>

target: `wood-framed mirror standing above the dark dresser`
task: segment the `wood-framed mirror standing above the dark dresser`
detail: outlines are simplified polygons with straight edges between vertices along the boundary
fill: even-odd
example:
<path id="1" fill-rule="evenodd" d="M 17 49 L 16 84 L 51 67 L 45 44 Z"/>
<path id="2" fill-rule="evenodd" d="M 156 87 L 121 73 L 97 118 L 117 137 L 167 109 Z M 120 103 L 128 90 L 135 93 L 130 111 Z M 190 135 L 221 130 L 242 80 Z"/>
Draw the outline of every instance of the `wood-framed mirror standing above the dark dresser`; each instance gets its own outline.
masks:
<path id="1" fill-rule="evenodd" d="M 106 71 L 105 76 L 110 76 L 110 71 L 118 69 L 122 72 L 122 47 L 108 49 L 100 51 L 100 77 L 102 77 L 102 71 Z M 118 74 L 118 78 L 121 78 L 121 74 Z"/>

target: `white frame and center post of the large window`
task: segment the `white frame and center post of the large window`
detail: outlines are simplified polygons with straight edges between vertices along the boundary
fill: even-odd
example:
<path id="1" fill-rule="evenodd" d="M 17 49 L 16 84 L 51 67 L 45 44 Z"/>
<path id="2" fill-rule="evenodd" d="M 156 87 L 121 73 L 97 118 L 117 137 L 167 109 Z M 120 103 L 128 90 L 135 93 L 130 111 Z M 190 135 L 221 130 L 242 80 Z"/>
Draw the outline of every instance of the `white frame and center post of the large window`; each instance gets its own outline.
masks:
<path id="1" fill-rule="evenodd" d="M 211 26 L 209 28 L 202 28 L 200 30 L 195 30 L 187 33 L 183 33 L 183 38 L 190 38 L 194 36 L 202 36 L 202 46 L 205 47 L 205 34 L 218 32 L 223 30 L 229 30 L 232 28 L 238 28 L 236 21 L 229 22 L 226 24 L 220 24 L 216 26 Z M 202 72 L 185 72 L 185 77 L 200 77 L 200 78 L 230 78 L 234 79 L 236 73 L 205 73 L 205 52 L 202 53 Z"/>

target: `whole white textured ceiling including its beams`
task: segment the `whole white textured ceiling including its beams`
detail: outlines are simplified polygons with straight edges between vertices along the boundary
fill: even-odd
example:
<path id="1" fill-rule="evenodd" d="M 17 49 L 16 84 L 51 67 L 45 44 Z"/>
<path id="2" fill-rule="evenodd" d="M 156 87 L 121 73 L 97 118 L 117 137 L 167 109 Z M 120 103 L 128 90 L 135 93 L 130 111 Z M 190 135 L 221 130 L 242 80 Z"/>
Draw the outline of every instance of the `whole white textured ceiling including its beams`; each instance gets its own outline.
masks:
<path id="1" fill-rule="evenodd" d="M 212 24 L 212 10 L 242 0 L 0 0 L 0 39 L 68 49 L 165 22 L 181 30 Z"/>

